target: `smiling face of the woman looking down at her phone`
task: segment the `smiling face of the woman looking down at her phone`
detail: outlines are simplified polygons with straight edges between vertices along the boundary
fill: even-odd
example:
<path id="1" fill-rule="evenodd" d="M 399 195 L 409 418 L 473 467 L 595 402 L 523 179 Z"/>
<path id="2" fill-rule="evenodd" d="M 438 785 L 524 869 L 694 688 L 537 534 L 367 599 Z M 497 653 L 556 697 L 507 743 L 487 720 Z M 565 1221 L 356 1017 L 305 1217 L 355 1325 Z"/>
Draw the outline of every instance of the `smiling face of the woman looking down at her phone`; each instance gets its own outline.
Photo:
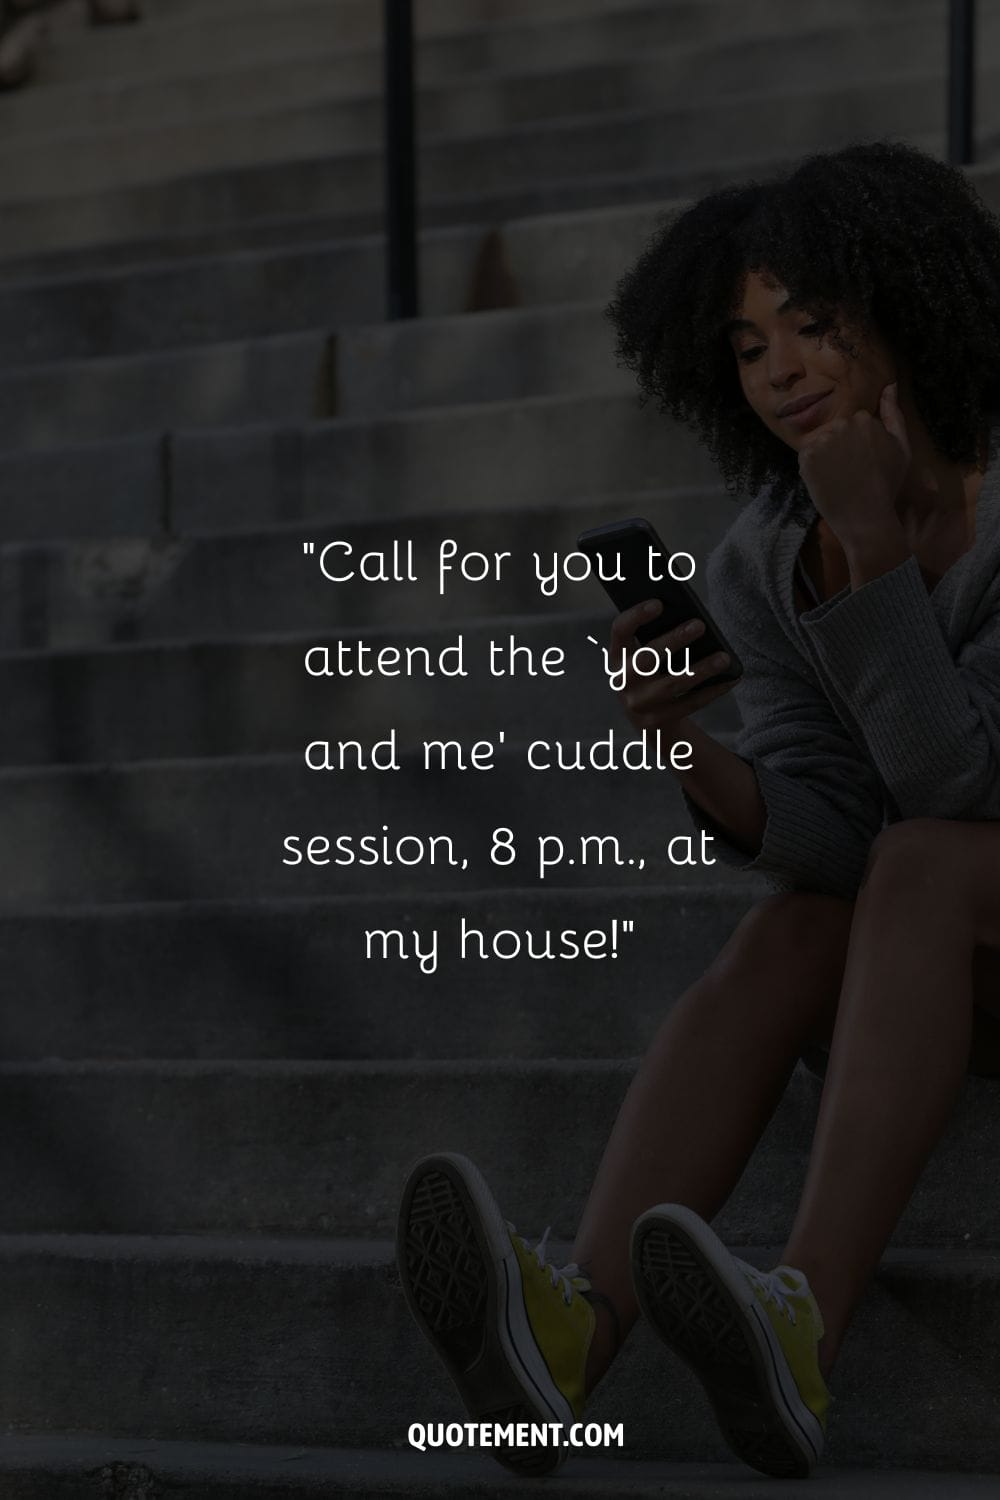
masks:
<path id="1" fill-rule="evenodd" d="M 789 292 L 750 272 L 742 304 L 729 327 L 739 382 L 753 410 L 777 438 L 802 447 L 807 434 L 832 417 L 879 411 L 883 388 L 897 378 L 897 362 L 877 336 L 843 336 L 858 346 L 858 358 L 843 354 L 811 314 L 789 306 Z M 819 398 L 819 399 L 816 399 Z M 796 412 L 802 405 L 805 410 Z"/>

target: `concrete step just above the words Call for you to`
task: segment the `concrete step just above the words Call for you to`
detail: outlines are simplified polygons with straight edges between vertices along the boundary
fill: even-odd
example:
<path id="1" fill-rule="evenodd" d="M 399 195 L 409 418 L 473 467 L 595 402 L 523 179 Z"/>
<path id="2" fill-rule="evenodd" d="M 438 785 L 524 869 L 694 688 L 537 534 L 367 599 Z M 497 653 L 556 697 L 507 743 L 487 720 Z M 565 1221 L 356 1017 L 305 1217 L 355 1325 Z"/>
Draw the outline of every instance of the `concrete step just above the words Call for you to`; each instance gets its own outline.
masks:
<path id="1" fill-rule="evenodd" d="M 708 453 L 678 423 L 649 406 L 640 411 L 631 394 L 0 456 L 7 538 L 190 536 L 390 514 L 402 525 L 429 510 L 588 504 L 615 492 L 706 484 L 718 484 Z"/>

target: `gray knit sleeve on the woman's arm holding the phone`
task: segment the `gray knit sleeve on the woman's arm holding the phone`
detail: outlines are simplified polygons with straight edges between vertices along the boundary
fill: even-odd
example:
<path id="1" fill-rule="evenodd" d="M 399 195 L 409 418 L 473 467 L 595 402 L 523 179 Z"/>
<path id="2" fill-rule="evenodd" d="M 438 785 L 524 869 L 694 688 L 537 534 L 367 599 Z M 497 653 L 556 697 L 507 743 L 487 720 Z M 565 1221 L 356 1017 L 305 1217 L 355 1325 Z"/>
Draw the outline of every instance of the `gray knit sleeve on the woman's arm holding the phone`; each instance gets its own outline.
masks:
<path id="1" fill-rule="evenodd" d="M 853 897 L 885 819 L 873 766 L 834 712 L 822 684 L 754 580 L 733 540 L 708 564 L 712 612 L 744 663 L 735 688 L 742 717 L 736 753 L 754 770 L 766 808 L 754 858 L 729 843 L 685 796 L 696 826 L 714 836 L 712 852 L 781 890 Z"/>

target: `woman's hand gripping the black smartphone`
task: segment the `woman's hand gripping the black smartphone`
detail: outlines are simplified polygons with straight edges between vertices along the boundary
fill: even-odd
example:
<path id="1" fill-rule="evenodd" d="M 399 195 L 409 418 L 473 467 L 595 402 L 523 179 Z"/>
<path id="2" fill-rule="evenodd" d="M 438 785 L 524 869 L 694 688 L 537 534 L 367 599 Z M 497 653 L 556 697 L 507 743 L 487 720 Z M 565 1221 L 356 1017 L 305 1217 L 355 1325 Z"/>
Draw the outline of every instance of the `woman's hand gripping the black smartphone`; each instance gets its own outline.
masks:
<path id="1" fill-rule="evenodd" d="M 624 609 L 612 621 L 610 663 L 615 670 L 621 670 L 625 660 L 625 686 L 619 692 L 619 699 L 625 708 L 630 723 L 636 729 L 660 729 L 669 738 L 684 738 L 684 722 L 688 714 L 706 708 L 717 698 L 729 693 L 735 680 L 703 686 L 708 678 L 715 676 L 729 664 L 729 656 L 723 651 L 718 656 L 705 657 L 702 662 L 691 662 L 691 674 L 672 676 L 660 672 L 655 676 L 642 676 L 628 666 L 628 657 L 634 651 L 636 630 L 649 624 L 663 614 L 660 600 L 651 598 L 642 604 Z M 675 630 L 667 630 L 648 642 L 657 651 L 672 651 L 675 662 L 684 662 L 685 646 L 693 645 L 705 633 L 700 620 L 687 621 Z M 666 660 L 666 657 L 664 657 Z"/>

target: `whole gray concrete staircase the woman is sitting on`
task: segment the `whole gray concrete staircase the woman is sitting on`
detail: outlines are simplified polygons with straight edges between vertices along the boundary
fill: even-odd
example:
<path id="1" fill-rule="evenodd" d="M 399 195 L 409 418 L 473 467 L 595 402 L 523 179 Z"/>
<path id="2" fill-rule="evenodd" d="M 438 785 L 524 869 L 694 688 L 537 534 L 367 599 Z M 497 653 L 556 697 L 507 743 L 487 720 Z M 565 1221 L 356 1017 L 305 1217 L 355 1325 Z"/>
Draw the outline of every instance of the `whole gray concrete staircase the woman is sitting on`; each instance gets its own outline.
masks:
<path id="1" fill-rule="evenodd" d="M 760 888 L 670 868 L 682 808 L 658 788 L 652 819 L 642 772 L 525 774 L 529 738 L 627 729 L 594 586 L 333 586 L 303 546 L 523 555 L 648 513 L 703 560 L 733 502 L 637 411 L 601 309 L 684 195 L 856 135 L 942 150 L 943 6 L 420 0 L 427 316 L 390 327 L 379 8 L 145 4 L 121 33 L 61 16 L 43 82 L 0 100 L 0 1494 L 513 1497 L 486 1460 L 405 1446 L 456 1414 L 397 1288 L 405 1170 L 463 1149 L 522 1228 L 568 1239 L 628 1059 Z M 973 176 L 1000 206 L 1000 171 Z M 459 632 L 477 662 L 562 645 L 567 675 L 301 668 Z M 705 723 L 729 734 L 729 702 Z M 309 740 L 390 726 L 391 776 L 303 768 Z M 424 735 L 499 729 L 489 776 L 418 765 Z M 538 885 L 489 864 L 501 820 L 525 844 L 615 830 L 646 868 Z M 282 864 L 288 834 L 382 824 L 451 834 L 469 870 Z M 460 914 L 636 934 L 618 984 L 364 958 L 367 926 Z M 810 1494 L 996 1490 L 997 1094 L 970 1082 L 900 1226 Z M 750 1258 L 789 1224 L 816 1100 L 796 1076 L 721 1218 Z M 642 1330 L 594 1416 L 625 1422 L 628 1464 L 547 1491 L 771 1492 Z"/>

